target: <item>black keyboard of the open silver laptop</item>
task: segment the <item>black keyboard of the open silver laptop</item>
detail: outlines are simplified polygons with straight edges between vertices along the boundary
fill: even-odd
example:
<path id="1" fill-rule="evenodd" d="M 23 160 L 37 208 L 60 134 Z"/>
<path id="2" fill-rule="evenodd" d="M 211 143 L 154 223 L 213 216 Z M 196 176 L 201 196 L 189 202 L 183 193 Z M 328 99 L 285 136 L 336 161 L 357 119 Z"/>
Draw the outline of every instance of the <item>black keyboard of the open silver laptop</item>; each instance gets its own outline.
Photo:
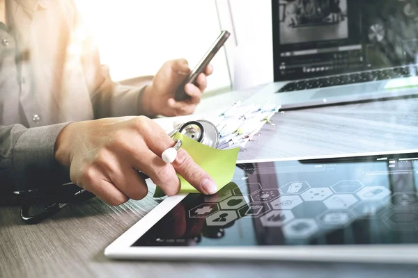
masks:
<path id="1" fill-rule="evenodd" d="M 340 74 L 334 76 L 320 77 L 317 79 L 306 79 L 301 81 L 292 81 L 284 85 L 277 92 L 291 92 L 297 90 L 307 90 L 316 88 L 325 88 L 336 85 L 348 85 L 354 83 L 396 79 L 417 74 L 417 66 L 394 67 L 385 70 L 373 70 L 369 72 L 355 72 L 352 74 Z"/>

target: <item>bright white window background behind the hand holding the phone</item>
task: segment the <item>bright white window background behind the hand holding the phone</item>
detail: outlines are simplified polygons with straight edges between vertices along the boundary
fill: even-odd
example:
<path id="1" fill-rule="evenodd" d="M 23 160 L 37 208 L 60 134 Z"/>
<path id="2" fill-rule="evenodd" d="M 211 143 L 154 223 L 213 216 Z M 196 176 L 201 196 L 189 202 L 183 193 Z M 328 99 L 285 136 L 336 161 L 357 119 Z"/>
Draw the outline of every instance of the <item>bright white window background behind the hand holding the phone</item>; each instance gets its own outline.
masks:
<path id="1" fill-rule="evenodd" d="M 114 81 L 173 58 L 193 69 L 222 29 L 232 35 L 212 60 L 206 97 L 273 81 L 270 0 L 75 1 Z"/>

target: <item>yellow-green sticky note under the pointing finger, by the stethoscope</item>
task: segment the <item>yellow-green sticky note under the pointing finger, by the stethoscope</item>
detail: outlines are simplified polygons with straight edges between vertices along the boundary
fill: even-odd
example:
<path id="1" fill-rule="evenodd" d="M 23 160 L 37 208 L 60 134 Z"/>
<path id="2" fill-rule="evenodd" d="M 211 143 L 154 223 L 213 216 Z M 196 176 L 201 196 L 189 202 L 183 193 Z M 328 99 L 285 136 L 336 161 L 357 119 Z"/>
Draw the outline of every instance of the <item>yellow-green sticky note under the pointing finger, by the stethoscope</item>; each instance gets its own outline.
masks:
<path id="1" fill-rule="evenodd" d="M 218 190 L 226 186 L 226 184 L 232 180 L 240 148 L 214 149 L 203 145 L 192 138 L 188 138 L 182 133 L 176 133 L 176 135 L 173 136 L 173 139 L 179 139 L 183 142 L 181 147 L 192 156 L 197 165 L 212 177 L 218 186 Z M 188 181 L 183 179 L 180 174 L 177 174 L 177 176 L 180 179 L 180 193 L 199 193 L 199 191 Z M 154 197 L 163 196 L 165 196 L 164 192 L 157 186 Z"/>

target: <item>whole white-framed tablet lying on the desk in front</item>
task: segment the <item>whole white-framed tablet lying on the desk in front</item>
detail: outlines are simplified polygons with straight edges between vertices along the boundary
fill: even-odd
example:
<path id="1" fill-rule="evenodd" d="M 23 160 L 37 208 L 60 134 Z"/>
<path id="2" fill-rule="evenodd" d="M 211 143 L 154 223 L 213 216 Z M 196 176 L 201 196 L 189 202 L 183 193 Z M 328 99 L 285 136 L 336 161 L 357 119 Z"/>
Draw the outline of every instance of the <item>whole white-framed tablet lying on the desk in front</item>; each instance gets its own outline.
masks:
<path id="1" fill-rule="evenodd" d="M 418 263 L 418 150 L 239 161 L 217 195 L 164 199 L 114 259 Z"/>

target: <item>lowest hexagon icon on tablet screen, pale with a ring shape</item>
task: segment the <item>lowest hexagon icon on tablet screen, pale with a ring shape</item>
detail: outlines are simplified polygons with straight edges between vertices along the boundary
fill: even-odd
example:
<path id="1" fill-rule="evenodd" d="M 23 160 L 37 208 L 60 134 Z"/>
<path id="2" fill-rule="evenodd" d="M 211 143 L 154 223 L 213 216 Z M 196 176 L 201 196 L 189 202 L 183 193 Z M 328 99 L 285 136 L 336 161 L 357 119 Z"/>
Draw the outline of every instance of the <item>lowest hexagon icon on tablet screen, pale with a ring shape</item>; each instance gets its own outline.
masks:
<path id="1" fill-rule="evenodd" d="M 298 218 L 289 222 L 283 228 L 286 238 L 309 238 L 319 230 L 318 224 L 313 218 Z"/>

